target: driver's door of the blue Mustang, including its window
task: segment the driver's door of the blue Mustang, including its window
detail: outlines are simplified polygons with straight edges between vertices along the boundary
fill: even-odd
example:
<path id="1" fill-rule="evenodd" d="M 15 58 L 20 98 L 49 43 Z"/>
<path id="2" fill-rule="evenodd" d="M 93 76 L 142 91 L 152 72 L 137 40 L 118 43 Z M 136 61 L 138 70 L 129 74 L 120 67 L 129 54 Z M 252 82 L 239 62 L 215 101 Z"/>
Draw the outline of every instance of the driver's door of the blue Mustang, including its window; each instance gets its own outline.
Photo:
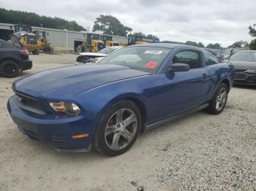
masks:
<path id="1" fill-rule="evenodd" d="M 206 101 L 211 90 L 211 76 L 205 68 L 203 52 L 199 50 L 180 50 L 170 61 L 187 63 L 189 71 L 170 72 L 163 74 L 165 80 L 165 117 L 185 112 Z"/>

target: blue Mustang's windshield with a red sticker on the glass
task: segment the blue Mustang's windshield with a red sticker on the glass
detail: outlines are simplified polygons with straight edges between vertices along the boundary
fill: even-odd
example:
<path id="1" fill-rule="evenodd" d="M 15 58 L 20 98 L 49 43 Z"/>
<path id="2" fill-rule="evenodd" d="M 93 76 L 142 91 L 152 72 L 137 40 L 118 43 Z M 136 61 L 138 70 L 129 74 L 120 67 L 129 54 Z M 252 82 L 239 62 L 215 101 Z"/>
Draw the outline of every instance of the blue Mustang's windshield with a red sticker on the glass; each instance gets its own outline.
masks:
<path id="1" fill-rule="evenodd" d="M 131 69 L 155 73 L 170 52 L 162 47 L 124 47 L 108 55 L 99 63 L 118 64 Z"/>

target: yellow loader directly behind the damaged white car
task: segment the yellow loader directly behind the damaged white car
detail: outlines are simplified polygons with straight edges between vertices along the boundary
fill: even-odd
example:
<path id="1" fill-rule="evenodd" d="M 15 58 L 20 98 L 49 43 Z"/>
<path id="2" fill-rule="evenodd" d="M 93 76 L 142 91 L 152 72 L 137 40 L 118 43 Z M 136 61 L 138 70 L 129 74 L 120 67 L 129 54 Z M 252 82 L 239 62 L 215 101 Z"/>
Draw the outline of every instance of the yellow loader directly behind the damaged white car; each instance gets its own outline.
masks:
<path id="1" fill-rule="evenodd" d="M 103 41 L 99 40 L 99 34 L 86 34 L 86 40 L 76 48 L 76 52 L 98 52 L 105 48 Z"/>

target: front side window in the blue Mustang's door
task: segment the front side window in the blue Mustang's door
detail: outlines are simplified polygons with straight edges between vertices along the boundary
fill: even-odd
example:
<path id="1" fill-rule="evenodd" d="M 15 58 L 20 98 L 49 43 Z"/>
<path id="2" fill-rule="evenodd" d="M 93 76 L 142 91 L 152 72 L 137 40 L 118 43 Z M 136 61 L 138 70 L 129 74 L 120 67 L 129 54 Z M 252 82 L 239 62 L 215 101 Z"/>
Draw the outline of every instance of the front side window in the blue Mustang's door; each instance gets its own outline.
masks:
<path id="1" fill-rule="evenodd" d="M 173 57 L 173 63 L 187 63 L 190 66 L 190 69 L 198 69 L 201 67 L 199 53 L 190 50 L 178 52 Z"/>

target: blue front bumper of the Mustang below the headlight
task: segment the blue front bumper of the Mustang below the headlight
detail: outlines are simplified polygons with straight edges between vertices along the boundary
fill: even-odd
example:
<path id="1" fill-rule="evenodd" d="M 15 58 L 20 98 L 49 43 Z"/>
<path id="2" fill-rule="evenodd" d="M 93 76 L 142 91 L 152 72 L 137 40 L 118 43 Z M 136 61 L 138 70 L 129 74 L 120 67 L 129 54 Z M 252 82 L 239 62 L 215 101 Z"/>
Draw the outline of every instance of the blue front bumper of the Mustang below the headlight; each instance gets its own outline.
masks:
<path id="1" fill-rule="evenodd" d="M 94 125 L 94 115 L 76 117 L 54 117 L 49 119 L 46 115 L 31 114 L 26 109 L 20 108 L 18 97 L 12 96 L 7 103 L 12 120 L 18 129 L 30 139 L 48 144 L 58 150 L 89 151 L 93 141 L 94 130 L 89 127 Z M 53 115 L 53 114 L 52 114 Z M 87 120 L 89 118 L 90 120 Z M 88 137 L 73 139 L 72 136 L 89 134 Z"/>

